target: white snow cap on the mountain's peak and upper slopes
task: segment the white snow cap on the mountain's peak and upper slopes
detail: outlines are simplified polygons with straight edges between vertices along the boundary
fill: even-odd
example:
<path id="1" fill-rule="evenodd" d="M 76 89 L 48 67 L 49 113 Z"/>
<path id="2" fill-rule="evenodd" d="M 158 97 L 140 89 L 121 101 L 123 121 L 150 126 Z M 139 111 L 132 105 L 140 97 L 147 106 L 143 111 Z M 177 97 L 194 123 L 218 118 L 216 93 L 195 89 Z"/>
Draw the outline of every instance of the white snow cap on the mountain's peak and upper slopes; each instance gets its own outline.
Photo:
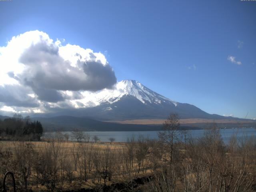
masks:
<path id="1" fill-rule="evenodd" d="M 80 108 L 77 102 L 82 103 L 83 107 L 98 106 L 102 103 L 108 102 L 113 104 L 124 96 L 133 96 L 143 104 L 162 104 L 164 102 L 171 102 L 177 106 L 178 102 L 172 101 L 142 85 L 135 80 L 122 80 L 116 84 L 114 89 L 104 89 L 96 93 L 81 92 L 83 99 L 73 100 L 72 103 L 76 108 Z"/>

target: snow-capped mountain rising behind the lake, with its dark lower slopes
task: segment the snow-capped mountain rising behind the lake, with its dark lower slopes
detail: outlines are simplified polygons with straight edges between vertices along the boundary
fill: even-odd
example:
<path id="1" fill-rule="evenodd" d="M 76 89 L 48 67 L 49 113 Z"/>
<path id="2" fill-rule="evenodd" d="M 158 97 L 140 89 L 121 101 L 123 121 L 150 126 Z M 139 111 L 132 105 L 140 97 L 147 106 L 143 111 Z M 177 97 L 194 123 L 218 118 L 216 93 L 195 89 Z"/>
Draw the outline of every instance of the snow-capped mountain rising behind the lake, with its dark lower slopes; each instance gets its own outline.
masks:
<path id="1" fill-rule="evenodd" d="M 170 113 L 180 118 L 232 119 L 208 114 L 194 105 L 166 98 L 138 81 L 122 80 L 113 90 L 84 94 L 84 107 L 62 110 L 56 115 L 90 117 L 97 120 L 166 119 Z"/>

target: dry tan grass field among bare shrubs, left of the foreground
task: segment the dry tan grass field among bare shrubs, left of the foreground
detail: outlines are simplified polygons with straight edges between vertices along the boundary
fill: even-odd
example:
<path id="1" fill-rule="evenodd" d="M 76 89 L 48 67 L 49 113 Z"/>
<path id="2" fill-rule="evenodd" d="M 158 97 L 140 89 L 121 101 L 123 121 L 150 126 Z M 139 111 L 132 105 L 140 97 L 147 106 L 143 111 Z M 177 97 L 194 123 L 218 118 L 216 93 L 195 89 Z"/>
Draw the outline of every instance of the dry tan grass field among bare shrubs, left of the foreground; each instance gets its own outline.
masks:
<path id="1" fill-rule="evenodd" d="M 27 150 L 26 145 L 29 144 L 31 144 L 33 148 L 32 156 L 35 154 L 50 153 L 50 157 L 42 157 L 45 158 L 43 161 L 50 162 L 49 165 L 46 165 L 50 167 L 50 170 L 52 170 L 54 167 L 57 168 L 57 175 L 54 177 L 60 177 L 63 179 L 58 179 L 58 182 L 61 182 L 61 187 L 59 184 L 56 184 L 54 187 L 56 189 L 58 188 L 59 190 L 98 188 L 102 185 L 129 182 L 135 178 L 148 176 L 150 174 L 150 169 L 142 170 L 142 168 L 140 168 L 141 170 L 138 173 L 138 165 L 136 164 L 135 160 L 132 162 L 132 165 L 128 165 L 129 163 L 126 162 L 128 166 L 126 167 L 127 170 L 124 170 L 125 168 L 123 167 L 122 173 L 121 170 L 117 171 L 117 169 L 122 169 L 121 162 L 119 160 L 123 158 L 121 156 L 124 155 L 128 148 L 127 144 L 122 142 L 74 142 L 63 140 L 33 142 L 0 141 L 0 152 L 8 152 L 8 154 L 12 154 L 11 156 L 6 157 L 5 160 L 3 158 L 0 159 L 1 164 L 6 164 L 6 169 L 0 170 L 0 180 L 2 180 L 4 172 L 11 170 L 14 172 L 16 182 L 17 180 L 20 180 L 20 184 L 23 184 L 22 178 L 17 176 L 20 173 L 17 173 L 15 170 L 16 161 L 19 161 L 15 156 L 17 151 Z M 57 155 L 56 159 L 54 159 L 55 153 Z M 31 159 L 28 159 L 28 156 L 24 156 L 21 166 L 24 166 L 24 161 L 26 162 L 26 168 L 41 164 L 40 161 L 34 162 L 35 159 L 32 159 L 32 156 L 29 156 Z M 54 164 L 55 160 L 56 164 Z M 127 159 L 127 161 L 130 160 Z M 66 168 L 65 166 L 68 167 Z M 86 172 L 86 179 L 83 172 Z M 104 172 L 111 172 L 111 180 L 110 176 L 108 175 L 106 175 L 106 178 L 104 178 Z M 30 176 L 28 177 L 28 188 L 36 192 L 50 191 L 50 186 L 47 187 L 45 184 L 41 183 L 36 185 L 33 184 L 33 180 L 36 180 L 34 177 L 36 174 L 38 174 L 37 170 L 32 168 L 30 171 Z M 65 176 L 62 174 L 65 174 Z M 50 182 L 52 179 L 51 176 L 48 178 L 48 182 Z"/>

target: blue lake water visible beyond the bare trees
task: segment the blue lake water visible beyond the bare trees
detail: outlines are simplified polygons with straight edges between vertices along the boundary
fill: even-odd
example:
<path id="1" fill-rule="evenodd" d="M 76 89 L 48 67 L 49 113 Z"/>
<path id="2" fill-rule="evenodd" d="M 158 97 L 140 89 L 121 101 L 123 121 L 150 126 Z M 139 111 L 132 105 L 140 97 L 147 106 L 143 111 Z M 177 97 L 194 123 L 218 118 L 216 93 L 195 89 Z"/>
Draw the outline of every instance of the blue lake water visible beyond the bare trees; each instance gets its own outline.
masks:
<path id="1" fill-rule="evenodd" d="M 187 135 L 191 135 L 192 138 L 200 138 L 204 135 L 205 130 L 188 130 Z M 62 132 L 69 134 L 69 140 L 75 140 L 72 138 L 72 132 Z M 126 142 L 128 138 L 138 138 L 138 136 L 142 135 L 144 138 L 157 139 L 158 131 L 106 131 L 106 132 L 84 132 L 88 133 L 91 136 L 91 141 L 93 136 L 98 136 L 100 141 L 109 142 L 108 138 L 115 138 L 116 142 Z M 49 134 L 54 133 L 45 133 L 44 136 L 47 137 Z M 255 128 L 234 128 L 234 129 L 221 129 L 220 134 L 225 143 L 229 142 L 232 135 L 236 134 L 237 138 L 241 138 L 244 136 L 256 136 Z"/>

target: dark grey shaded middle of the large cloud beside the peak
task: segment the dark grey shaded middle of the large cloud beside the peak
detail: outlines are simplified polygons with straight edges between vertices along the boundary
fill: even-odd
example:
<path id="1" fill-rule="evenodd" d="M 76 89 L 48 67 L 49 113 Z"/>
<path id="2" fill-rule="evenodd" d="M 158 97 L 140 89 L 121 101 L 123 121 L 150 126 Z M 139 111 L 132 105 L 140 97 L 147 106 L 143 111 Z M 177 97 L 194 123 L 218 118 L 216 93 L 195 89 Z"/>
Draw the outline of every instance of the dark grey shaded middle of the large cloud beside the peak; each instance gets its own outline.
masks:
<path id="1" fill-rule="evenodd" d="M 90 53 L 90 58 L 96 59 L 96 56 Z M 19 61 L 26 68 L 16 78 L 30 86 L 40 100 L 48 102 L 63 100 L 58 90 L 97 91 L 116 83 L 115 73 L 108 63 L 78 60 L 77 67 L 71 66 L 58 54 L 58 46 L 44 41 L 30 46 Z"/>

